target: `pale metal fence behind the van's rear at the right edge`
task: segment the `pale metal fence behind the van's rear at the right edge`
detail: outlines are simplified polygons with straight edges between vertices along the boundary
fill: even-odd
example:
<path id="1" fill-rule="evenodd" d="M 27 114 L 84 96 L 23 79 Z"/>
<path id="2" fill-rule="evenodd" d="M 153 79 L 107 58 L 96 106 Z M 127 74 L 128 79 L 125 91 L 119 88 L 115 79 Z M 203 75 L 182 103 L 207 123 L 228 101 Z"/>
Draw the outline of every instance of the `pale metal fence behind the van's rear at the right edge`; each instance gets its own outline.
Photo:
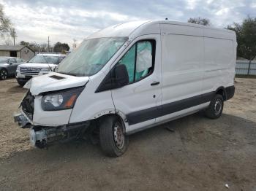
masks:
<path id="1" fill-rule="evenodd" d="M 236 74 L 256 76 L 256 61 L 236 61 Z"/>

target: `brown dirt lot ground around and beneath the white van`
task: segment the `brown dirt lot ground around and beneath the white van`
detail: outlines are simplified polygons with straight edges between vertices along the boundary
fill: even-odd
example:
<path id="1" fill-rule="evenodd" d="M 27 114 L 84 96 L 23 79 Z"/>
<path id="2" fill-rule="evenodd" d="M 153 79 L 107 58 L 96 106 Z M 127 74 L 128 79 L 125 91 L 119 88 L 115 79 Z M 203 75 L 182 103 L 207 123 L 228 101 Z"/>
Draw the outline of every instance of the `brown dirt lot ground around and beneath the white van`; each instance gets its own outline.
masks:
<path id="1" fill-rule="evenodd" d="M 0 81 L 0 190 L 256 190 L 256 79 L 236 81 L 218 120 L 193 114 L 137 133 L 118 158 L 87 142 L 30 147 L 12 120 L 26 90 Z"/>

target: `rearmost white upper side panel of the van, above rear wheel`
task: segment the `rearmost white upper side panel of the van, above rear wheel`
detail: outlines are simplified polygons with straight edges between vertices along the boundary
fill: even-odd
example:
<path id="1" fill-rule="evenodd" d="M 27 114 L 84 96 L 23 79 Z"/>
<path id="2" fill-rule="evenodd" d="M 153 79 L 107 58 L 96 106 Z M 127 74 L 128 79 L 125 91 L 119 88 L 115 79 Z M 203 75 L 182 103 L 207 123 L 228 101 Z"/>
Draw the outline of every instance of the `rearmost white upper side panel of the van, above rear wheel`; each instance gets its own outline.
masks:
<path id="1" fill-rule="evenodd" d="M 203 29 L 204 70 L 203 93 L 217 90 L 219 87 L 233 86 L 236 66 L 236 41 L 233 34 L 225 31 Z"/>

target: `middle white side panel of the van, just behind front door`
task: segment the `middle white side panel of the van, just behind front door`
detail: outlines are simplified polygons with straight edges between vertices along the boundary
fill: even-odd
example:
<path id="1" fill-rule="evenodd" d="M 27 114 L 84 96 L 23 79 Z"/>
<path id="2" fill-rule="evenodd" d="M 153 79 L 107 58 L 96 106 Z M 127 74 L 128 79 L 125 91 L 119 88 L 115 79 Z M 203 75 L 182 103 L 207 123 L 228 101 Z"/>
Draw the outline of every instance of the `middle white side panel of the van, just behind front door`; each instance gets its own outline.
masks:
<path id="1" fill-rule="evenodd" d="M 161 32 L 164 116 L 159 117 L 158 121 L 167 120 L 175 112 L 202 104 L 200 95 L 204 72 L 202 28 L 163 24 Z"/>

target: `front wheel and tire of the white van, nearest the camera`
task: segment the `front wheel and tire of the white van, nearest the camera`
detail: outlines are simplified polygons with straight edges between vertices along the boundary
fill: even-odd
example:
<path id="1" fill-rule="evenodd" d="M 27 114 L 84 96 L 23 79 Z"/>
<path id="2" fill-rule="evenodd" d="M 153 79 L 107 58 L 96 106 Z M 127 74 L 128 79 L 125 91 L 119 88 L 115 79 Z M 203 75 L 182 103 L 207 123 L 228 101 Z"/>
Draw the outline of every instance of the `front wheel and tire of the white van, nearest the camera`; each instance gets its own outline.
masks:
<path id="1" fill-rule="evenodd" d="M 124 123 L 116 116 L 104 117 L 99 125 L 99 141 L 108 157 L 118 157 L 126 152 L 129 140 L 124 135 Z"/>

